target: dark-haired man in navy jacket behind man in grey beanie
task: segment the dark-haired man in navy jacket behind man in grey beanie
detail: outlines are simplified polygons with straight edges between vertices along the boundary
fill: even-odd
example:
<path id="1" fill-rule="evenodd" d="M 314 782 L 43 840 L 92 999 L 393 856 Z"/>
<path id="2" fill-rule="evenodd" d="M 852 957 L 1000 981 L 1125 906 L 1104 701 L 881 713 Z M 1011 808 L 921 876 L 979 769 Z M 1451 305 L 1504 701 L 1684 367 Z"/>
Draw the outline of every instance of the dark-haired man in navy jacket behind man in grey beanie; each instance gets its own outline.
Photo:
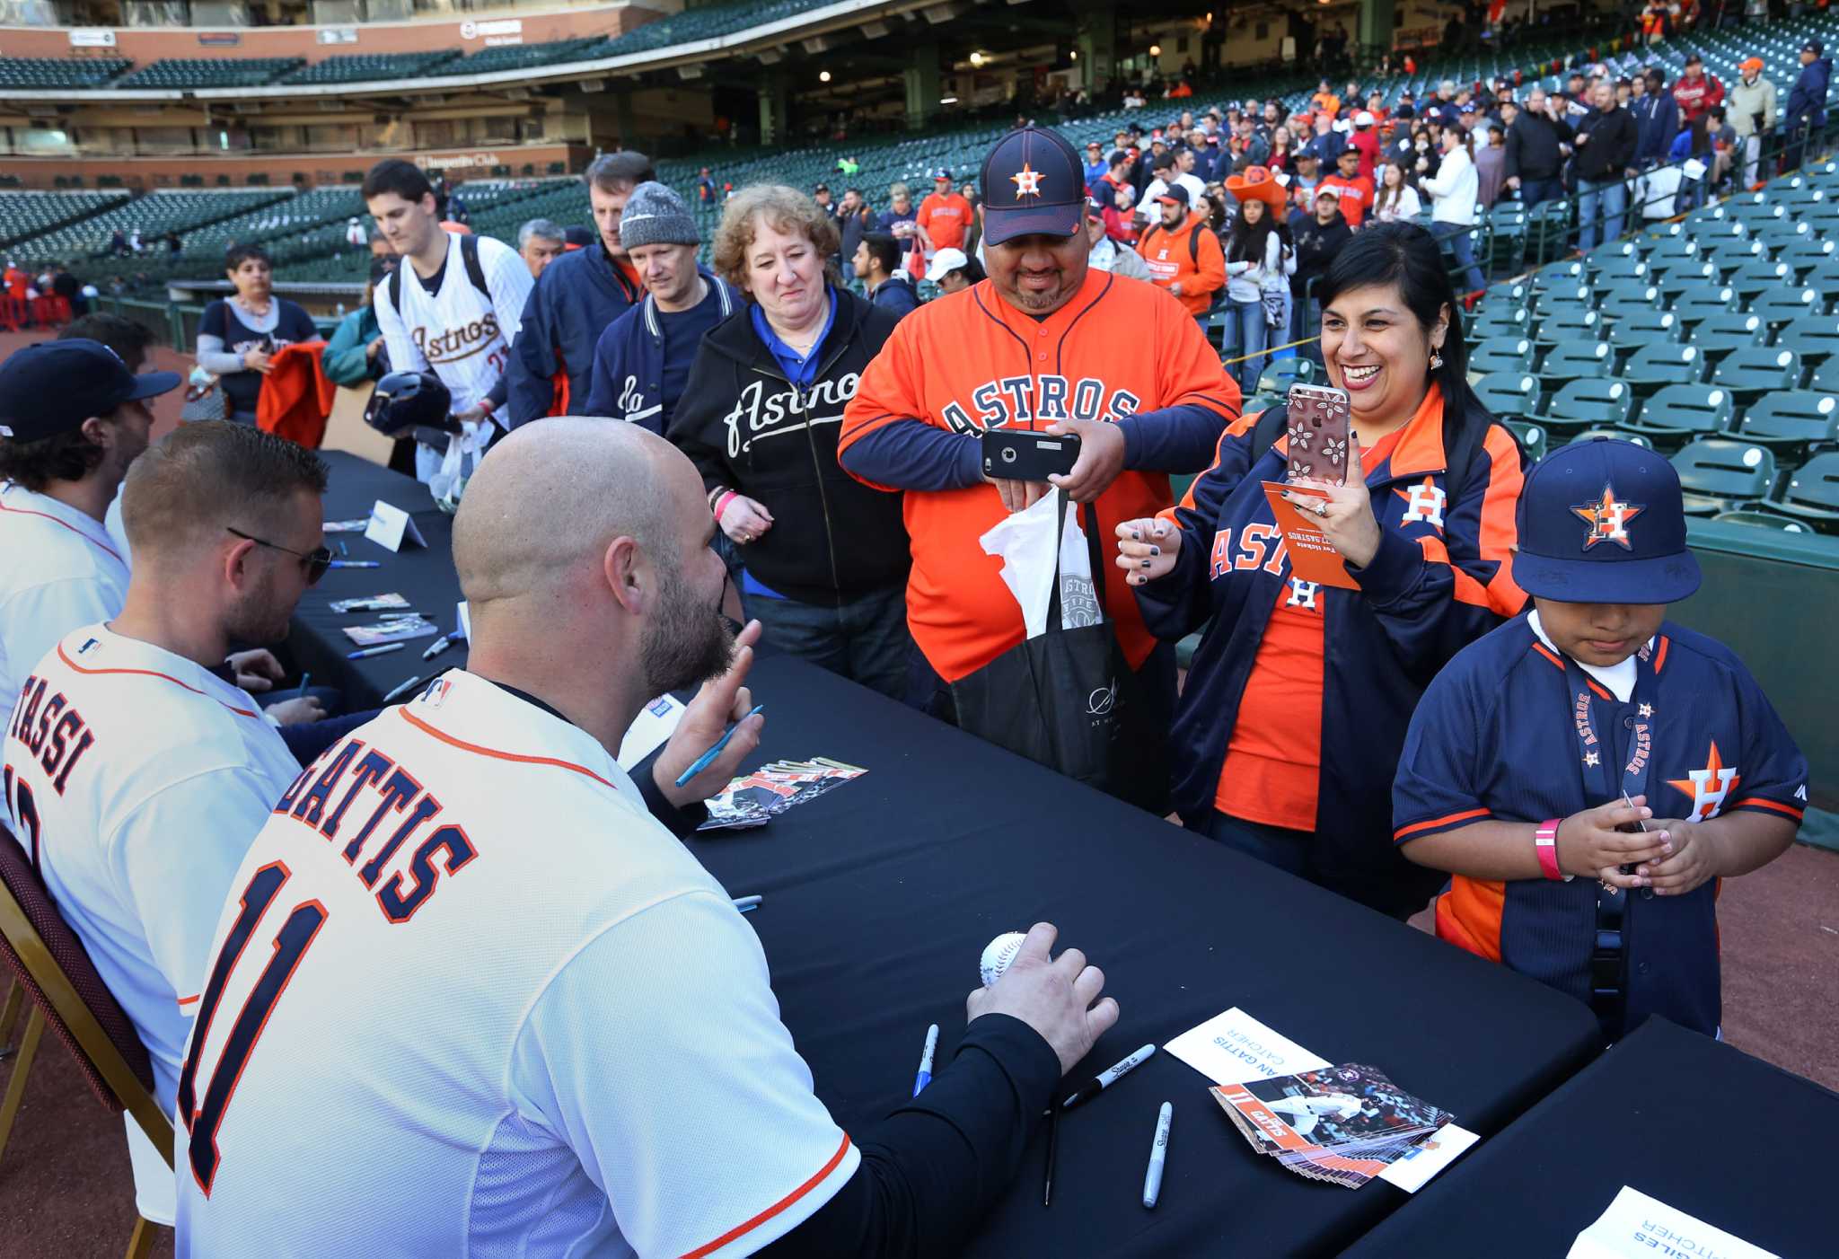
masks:
<path id="1" fill-rule="evenodd" d="M 651 178 L 651 158 L 642 153 L 605 153 L 587 167 L 600 239 L 557 257 L 530 290 L 506 373 L 511 428 L 565 415 L 588 395 L 594 344 L 644 296 L 620 241 L 620 217 L 633 189 Z"/>

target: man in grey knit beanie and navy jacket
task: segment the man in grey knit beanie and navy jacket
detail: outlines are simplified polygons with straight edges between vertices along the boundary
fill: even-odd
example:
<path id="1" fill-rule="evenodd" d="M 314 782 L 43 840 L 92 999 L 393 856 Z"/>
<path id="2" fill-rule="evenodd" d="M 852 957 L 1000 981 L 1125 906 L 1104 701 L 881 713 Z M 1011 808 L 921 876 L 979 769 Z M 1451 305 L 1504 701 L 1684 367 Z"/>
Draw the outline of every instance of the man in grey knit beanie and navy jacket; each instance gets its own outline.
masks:
<path id="1" fill-rule="evenodd" d="M 645 300 L 607 325 L 594 346 L 594 379 L 576 415 L 607 415 L 664 434 L 690 382 L 702 336 L 741 300 L 697 267 L 690 208 L 664 184 L 640 184 L 625 202 L 620 239 L 638 267 Z"/>

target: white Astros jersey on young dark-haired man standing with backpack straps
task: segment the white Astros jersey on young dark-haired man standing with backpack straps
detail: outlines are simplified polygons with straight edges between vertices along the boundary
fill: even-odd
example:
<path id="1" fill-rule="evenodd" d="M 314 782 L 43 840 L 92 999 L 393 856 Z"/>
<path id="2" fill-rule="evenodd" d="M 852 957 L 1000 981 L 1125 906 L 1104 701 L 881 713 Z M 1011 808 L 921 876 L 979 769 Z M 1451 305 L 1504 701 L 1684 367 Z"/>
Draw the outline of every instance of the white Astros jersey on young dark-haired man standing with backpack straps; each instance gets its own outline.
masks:
<path id="1" fill-rule="evenodd" d="M 432 371 L 452 393 L 456 412 L 480 403 L 504 375 L 531 285 L 530 267 L 517 250 L 491 237 L 476 239 L 489 300 L 467 276 L 456 233 L 447 233 L 447 263 L 438 290 L 428 292 L 416 268 L 403 259 L 403 309 L 390 303 L 390 283 L 377 285 L 371 298 L 377 327 L 390 347 L 390 368 Z"/>

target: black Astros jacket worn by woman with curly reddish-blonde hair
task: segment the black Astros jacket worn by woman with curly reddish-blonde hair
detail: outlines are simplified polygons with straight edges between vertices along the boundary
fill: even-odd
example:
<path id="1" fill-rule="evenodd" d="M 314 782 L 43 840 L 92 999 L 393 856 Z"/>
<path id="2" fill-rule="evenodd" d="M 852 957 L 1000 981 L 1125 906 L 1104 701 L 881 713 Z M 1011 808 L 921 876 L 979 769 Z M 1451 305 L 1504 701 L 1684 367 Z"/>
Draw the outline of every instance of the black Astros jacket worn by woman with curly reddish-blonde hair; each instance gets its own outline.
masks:
<path id="1" fill-rule="evenodd" d="M 741 548 L 761 584 L 800 603 L 835 605 L 903 586 L 912 564 L 901 496 L 862 485 L 837 463 L 842 408 L 897 318 L 835 290 L 837 322 L 818 375 L 798 390 L 754 333 L 752 307 L 710 329 L 666 436 L 721 489 L 760 500 L 772 527 Z"/>

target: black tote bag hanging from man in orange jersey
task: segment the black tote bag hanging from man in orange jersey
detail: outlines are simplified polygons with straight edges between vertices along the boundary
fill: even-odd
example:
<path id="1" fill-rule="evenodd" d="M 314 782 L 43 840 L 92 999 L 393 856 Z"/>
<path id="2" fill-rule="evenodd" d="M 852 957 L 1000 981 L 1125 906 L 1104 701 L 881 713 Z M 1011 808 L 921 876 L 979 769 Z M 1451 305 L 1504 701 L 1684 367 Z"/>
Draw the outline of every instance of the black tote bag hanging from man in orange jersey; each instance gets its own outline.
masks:
<path id="1" fill-rule="evenodd" d="M 1105 610 L 1105 566 L 1085 513 L 1098 610 Z M 1061 496 L 1059 527 L 1067 527 Z M 951 684 L 958 726 L 1035 765 L 1096 787 L 1162 816 L 1168 812 L 1166 720 L 1155 717 L 1144 682 L 1131 669 L 1109 619 L 1081 629 L 1061 627 L 1061 579 L 1046 632 L 1002 652 L 977 673 Z"/>

